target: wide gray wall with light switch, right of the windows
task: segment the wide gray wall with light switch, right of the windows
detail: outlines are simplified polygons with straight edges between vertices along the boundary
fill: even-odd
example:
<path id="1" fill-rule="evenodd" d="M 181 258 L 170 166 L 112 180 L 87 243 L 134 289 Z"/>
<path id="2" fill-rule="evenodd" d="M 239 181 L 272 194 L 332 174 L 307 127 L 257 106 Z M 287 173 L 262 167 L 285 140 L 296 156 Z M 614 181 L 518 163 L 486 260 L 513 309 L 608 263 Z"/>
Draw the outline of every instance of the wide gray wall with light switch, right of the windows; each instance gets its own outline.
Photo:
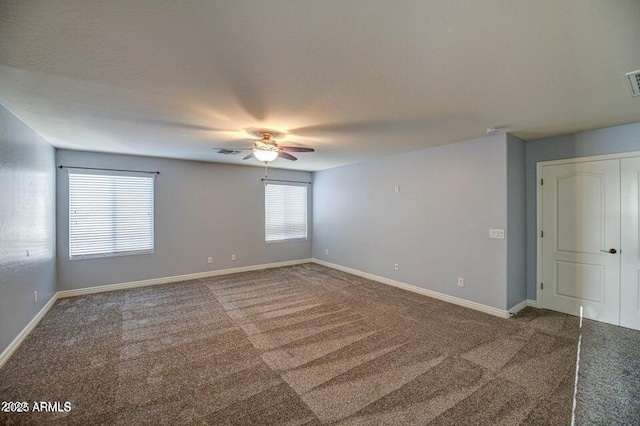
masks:
<path id="1" fill-rule="evenodd" d="M 506 158 L 500 134 L 315 172 L 313 256 L 506 309 Z"/>

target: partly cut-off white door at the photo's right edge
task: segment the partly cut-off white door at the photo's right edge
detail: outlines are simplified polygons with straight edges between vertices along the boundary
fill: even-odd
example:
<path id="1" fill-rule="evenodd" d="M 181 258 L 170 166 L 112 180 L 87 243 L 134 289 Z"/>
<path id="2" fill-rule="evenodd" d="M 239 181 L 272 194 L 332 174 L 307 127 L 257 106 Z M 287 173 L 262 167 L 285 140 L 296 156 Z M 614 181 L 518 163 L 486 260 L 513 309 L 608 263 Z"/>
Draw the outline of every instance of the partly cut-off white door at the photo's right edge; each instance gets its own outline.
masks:
<path id="1" fill-rule="evenodd" d="M 620 325 L 640 330 L 640 157 L 623 158 Z"/>

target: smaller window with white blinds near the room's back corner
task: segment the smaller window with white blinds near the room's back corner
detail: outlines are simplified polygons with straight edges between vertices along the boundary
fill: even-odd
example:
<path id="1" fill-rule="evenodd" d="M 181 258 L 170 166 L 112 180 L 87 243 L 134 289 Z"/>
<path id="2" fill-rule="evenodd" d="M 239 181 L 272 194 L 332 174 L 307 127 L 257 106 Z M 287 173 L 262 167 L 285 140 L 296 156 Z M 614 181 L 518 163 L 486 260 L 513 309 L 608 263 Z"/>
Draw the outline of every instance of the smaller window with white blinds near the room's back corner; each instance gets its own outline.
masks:
<path id="1" fill-rule="evenodd" d="M 265 240 L 307 239 L 307 186 L 266 183 Z"/>

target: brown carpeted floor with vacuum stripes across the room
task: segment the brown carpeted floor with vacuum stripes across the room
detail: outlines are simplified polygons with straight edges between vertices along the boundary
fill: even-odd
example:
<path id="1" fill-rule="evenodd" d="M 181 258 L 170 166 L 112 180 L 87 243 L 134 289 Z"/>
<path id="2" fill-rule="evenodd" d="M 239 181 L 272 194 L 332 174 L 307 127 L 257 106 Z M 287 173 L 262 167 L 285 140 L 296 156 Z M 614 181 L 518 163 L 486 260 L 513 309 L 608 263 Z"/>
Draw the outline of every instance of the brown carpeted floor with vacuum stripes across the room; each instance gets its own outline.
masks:
<path id="1" fill-rule="evenodd" d="M 581 335 L 576 424 L 639 424 L 636 331 L 316 264 L 101 293 L 58 301 L 0 369 L 0 401 L 71 411 L 0 423 L 569 424 Z"/>

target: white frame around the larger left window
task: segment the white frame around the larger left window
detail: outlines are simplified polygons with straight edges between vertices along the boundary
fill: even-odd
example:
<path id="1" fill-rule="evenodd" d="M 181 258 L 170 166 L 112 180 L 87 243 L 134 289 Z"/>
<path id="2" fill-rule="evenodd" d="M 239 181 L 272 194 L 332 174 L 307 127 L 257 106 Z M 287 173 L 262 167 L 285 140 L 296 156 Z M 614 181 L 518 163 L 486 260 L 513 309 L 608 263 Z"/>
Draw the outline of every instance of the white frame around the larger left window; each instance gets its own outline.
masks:
<path id="1" fill-rule="evenodd" d="M 71 175 L 96 175 L 96 176 L 118 176 L 118 177 L 144 177 L 151 179 L 151 205 L 150 205 L 150 213 L 151 213 L 151 248 L 143 249 L 143 250 L 126 250 L 126 251 L 114 251 L 114 252 L 101 252 L 101 253 L 88 253 L 88 254 L 71 254 L 71 243 L 72 243 L 72 215 L 71 215 Z M 69 260 L 83 260 L 83 259 L 100 259 L 107 257 L 120 257 L 120 256 L 136 256 L 142 254 L 153 254 L 155 253 L 155 173 L 148 172 L 128 172 L 128 171 L 111 171 L 111 170 L 101 170 L 101 169 L 68 169 L 67 174 L 67 215 L 68 215 L 68 244 L 67 249 L 69 251 Z"/>

